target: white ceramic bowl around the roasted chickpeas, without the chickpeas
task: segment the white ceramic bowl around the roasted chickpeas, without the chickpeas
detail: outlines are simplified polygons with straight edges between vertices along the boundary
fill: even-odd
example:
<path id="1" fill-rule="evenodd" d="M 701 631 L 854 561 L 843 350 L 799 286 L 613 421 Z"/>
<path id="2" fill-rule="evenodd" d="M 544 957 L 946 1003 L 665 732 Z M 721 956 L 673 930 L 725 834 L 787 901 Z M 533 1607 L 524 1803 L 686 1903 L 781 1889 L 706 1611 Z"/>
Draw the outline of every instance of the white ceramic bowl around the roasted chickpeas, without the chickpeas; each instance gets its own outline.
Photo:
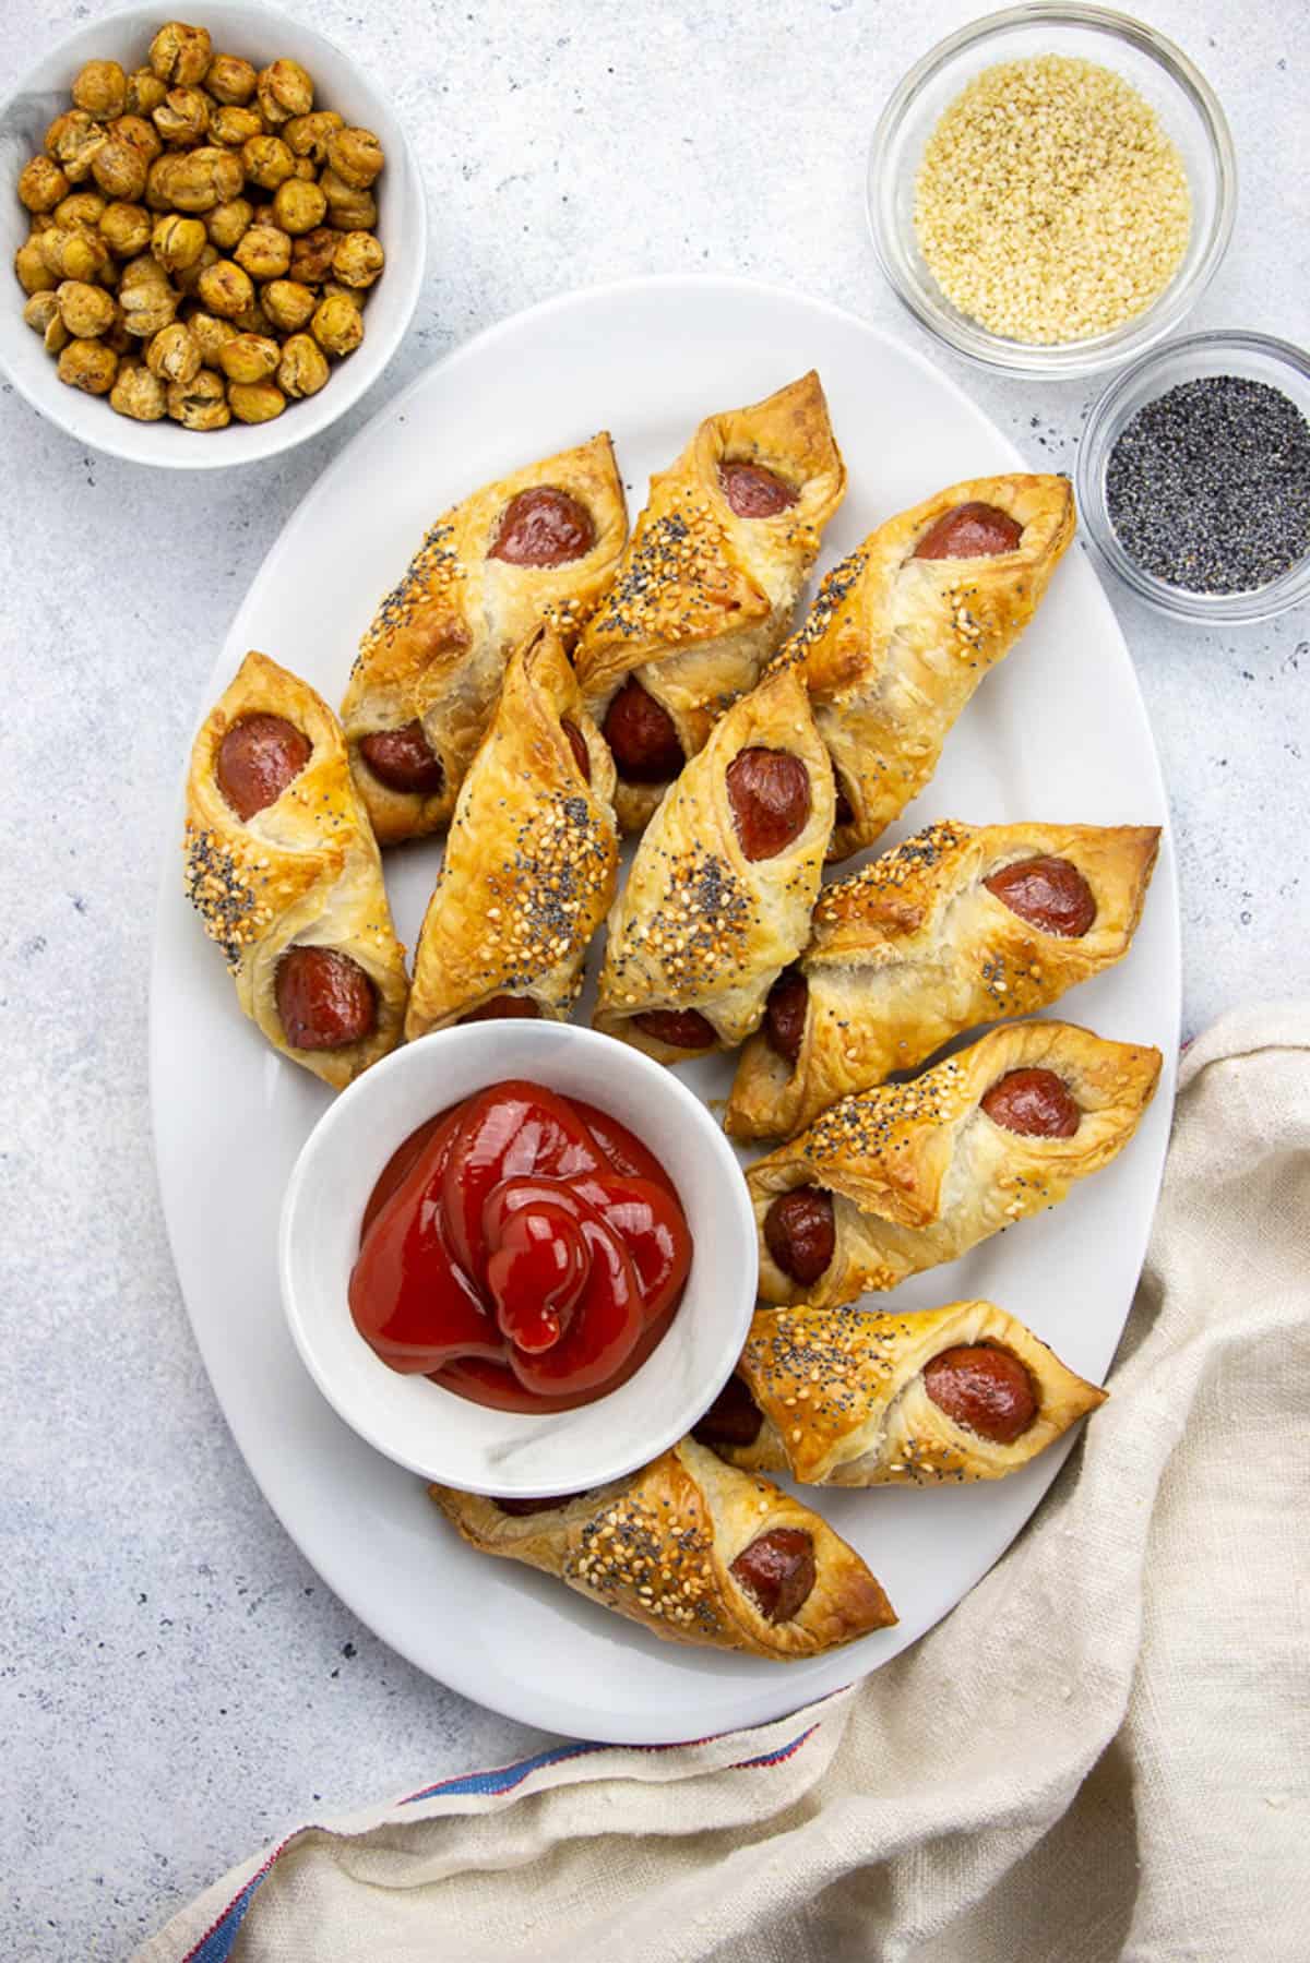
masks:
<path id="1" fill-rule="evenodd" d="M 361 124 L 381 137 L 387 167 L 377 183 L 377 236 L 387 267 L 369 294 L 363 342 L 346 361 L 332 363 L 332 375 L 318 395 L 291 402 L 273 422 L 232 422 L 226 430 L 183 430 L 167 420 L 132 422 L 118 416 L 108 398 L 82 395 L 59 381 L 41 338 L 24 322 L 26 294 L 14 277 L 14 253 L 27 236 L 27 212 L 16 190 L 18 173 L 41 149 L 53 118 L 71 108 L 69 86 L 84 61 L 112 59 L 126 69 L 145 63 L 153 35 L 171 16 L 165 6 L 134 6 L 122 14 L 106 14 L 59 41 L 0 104 L 0 367 L 33 408 L 92 450 L 106 450 L 130 463 L 212 471 L 293 450 L 346 414 L 377 381 L 418 304 L 428 218 L 422 179 L 403 126 L 387 96 L 340 47 L 314 27 L 267 6 L 204 0 L 204 6 L 189 8 L 187 14 L 208 27 L 218 53 L 246 55 L 255 67 L 291 55 L 314 79 L 318 106 L 338 110 L 348 124 Z M 75 188 L 94 190 L 94 185 Z"/>

